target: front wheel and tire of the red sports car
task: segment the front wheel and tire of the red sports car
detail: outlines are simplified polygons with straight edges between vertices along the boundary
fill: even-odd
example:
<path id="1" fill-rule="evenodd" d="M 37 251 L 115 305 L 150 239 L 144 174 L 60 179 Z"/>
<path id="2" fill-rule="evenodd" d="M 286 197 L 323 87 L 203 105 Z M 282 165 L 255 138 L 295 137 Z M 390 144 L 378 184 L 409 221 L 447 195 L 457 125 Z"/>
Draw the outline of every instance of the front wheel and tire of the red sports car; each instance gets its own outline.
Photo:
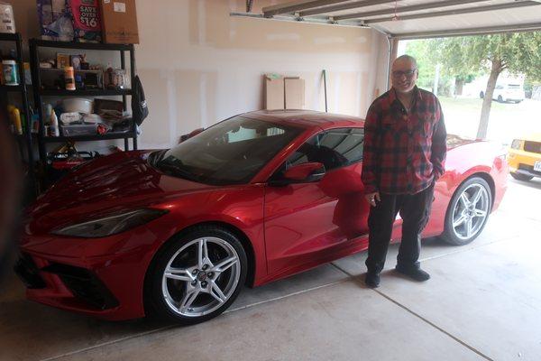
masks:
<path id="1" fill-rule="evenodd" d="M 145 282 L 145 307 L 150 315 L 181 325 L 213 319 L 238 296 L 247 265 L 243 245 L 233 233 L 222 227 L 194 227 L 154 257 Z"/>

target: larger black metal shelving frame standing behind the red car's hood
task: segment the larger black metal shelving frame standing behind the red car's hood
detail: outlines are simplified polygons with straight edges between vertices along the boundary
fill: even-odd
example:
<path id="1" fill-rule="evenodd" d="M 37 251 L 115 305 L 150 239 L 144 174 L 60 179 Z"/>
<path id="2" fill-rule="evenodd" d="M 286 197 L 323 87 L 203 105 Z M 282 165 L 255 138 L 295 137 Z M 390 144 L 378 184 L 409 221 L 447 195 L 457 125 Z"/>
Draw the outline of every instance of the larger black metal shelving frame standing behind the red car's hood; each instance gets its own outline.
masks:
<path id="1" fill-rule="evenodd" d="M 110 132 L 106 134 L 77 135 L 77 136 L 48 136 L 45 134 L 45 120 L 43 118 L 42 97 L 111 97 L 119 96 L 123 98 L 124 110 L 127 110 L 127 96 L 132 95 L 131 89 L 43 89 L 41 88 L 41 72 L 53 71 L 54 69 L 40 68 L 40 49 L 70 49 L 85 51 L 118 51 L 120 54 L 121 68 L 126 69 L 125 51 L 130 53 L 130 79 L 134 84 L 135 78 L 135 51 L 133 44 L 102 44 L 90 42 L 52 42 L 40 39 L 30 40 L 30 55 L 32 68 L 33 96 L 40 116 L 40 131 L 38 135 L 40 160 L 43 166 L 47 162 L 46 143 L 64 143 L 64 142 L 94 142 L 111 139 L 124 139 L 124 150 L 129 150 L 129 139 L 133 140 L 133 149 L 137 149 L 137 129 L 133 121 L 129 132 Z"/>

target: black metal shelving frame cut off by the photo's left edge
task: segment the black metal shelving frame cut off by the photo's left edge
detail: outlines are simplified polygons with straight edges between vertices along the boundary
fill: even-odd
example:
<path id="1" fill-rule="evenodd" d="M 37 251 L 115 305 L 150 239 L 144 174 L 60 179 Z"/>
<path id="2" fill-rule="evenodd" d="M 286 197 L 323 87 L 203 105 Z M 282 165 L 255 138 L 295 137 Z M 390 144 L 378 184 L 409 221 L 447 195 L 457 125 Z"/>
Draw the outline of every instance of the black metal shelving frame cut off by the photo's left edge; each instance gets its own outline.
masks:
<path id="1" fill-rule="evenodd" d="M 30 192 L 32 193 L 32 198 L 37 194 L 36 188 L 36 175 L 35 175 L 35 161 L 32 150 L 32 129 L 31 129 L 31 116 L 30 116 L 30 104 L 28 103 L 28 89 L 26 88 L 26 82 L 24 80 L 24 67 L 23 67 L 23 41 L 20 33 L 0 33 L 0 42 L 14 42 L 15 50 L 17 54 L 18 69 L 19 69 L 19 79 L 20 84 L 16 86 L 2 85 L 0 86 L 0 92 L 9 94 L 9 93 L 19 93 L 21 95 L 21 101 L 23 103 L 23 116 L 24 116 L 24 125 L 23 125 L 23 134 L 14 134 L 14 138 L 19 143 L 19 148 L 21 149 L 22 159 L 28 164 L 28 186 Z M 24 156 L 23 149 L 26 149 L 26 157 Z"/>

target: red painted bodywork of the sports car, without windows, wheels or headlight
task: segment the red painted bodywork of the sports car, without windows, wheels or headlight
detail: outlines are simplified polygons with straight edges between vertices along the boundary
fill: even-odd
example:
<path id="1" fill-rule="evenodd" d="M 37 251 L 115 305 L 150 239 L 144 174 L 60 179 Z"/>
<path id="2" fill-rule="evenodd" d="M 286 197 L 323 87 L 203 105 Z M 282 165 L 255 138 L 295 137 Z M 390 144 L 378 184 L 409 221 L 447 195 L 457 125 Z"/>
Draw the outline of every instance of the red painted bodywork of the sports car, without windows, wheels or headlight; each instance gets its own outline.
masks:
<path id="1" fill-rule="evenodd" d="M 116 153 L 83 165 L 60 180 L 27 210 L 21 249 L 38 268 L 69 264 L 94 273 L 118 301 L 96 310 L 79 301 L 56 274 L 41 272 L 46 287 L 27 297 L 54 307 L 104 319 L 144 316 L 145 275 L 160 247 L 187 227 L 217 223 L 243 238 L 252 260 L 252 285 L 271 282 L 368 245 L 369 205 L 363 199 L 362 163 L 327 171 L 313 183 L 271 187 L 266 181 L 298 146 L 325 129 L 362 127 L 362 120 L 316 112 L 252 112 L 264 121 L 305 128 L 248 184 L 209 186 L 153 169 L 149 152 Z M 436 183 L 436 200 L 424 236 L 444 231 L 445 212 L 454 190 L 472 174 L 489 180 L 497 208 L 506 190 L 507 163 L 489 143 L 454 140 L 445 175 Z M 474 158 L 474 159 L 473 159 Z M 160 208 L 169 212 L 146 225 L 103 238 L 54 236 L 57 227 L 115 210 Z M 400 220 L 393 240 L 399 240 Z"/>

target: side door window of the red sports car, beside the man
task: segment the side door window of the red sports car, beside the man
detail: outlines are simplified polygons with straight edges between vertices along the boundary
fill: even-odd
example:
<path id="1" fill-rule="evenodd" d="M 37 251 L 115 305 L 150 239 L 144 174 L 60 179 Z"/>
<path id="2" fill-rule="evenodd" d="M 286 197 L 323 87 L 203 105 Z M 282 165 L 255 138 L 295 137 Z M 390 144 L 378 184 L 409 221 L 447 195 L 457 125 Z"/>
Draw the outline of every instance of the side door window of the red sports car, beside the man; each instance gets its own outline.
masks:
<path id="1" fill-rule="evenodd" d="M 311 137 L 289 156 L 283 170 L 306 162 L 321 162 L 326 171 L 362 160 L 362 128 L 331 129 Z"/>

